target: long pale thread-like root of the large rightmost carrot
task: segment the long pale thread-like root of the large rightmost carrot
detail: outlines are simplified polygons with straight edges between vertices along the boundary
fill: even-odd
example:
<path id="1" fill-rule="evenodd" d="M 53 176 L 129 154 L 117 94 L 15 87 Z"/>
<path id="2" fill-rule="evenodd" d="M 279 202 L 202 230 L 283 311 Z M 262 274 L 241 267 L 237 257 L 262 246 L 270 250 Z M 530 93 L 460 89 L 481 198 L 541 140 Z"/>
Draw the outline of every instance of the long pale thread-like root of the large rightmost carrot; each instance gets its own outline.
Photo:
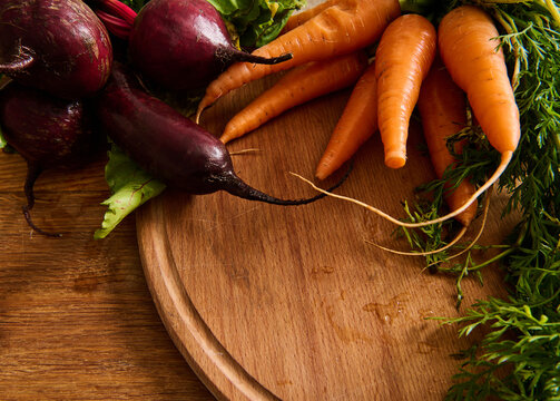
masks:
<path id="1" fill-rule="evenodd" d="M 331 196 L 331 197 L 334 197 L 334 198 L 337 198 L 337 199 L 342 199 L 342 200 L 346 200 L 346 202 L 350 202 L 350 203 L 353 203 L 353 204 L 356 204 L 358 206 L 362 206 L 364 208 L 366 208 L 367 211 L 370 212 L 373 212 L 375 214 L 377 214 L 379 216 L 390 221 L 391 223 L 394 223 L 401 227 L 406 227 L 406 228 L 416 228 L 416 227 L 424 227 L 424 226 L 428 226 L 428 225 L 432 225 L 432 224 L 439 224 L 439 223 L 443 223 L 443 222 L 446 222 L 448 219 L 450 218 L 453 218 L 455 217 L 456 215 L 463 213 L 464 211 L 466 211 L 471 204 L 477 200 L 477 198 L 483 194 L 488 188 L 490 188 L 499 178 L 500 176 L 502 175 L 502 173 L 505 170 L 505 168 L 508 167 L 510 160 L 511 160 L 511 157 L 513 155 L 513 151 L 504 151 L 502 154 L 502 159 L 501 159 L 501 163 L 500 165 L 498 166 L 498 168 L 495 169 L 494 174 L 487 180 L 487 183 L 484 185 L 482 185 L 464 204 L 463 206 L 461 206 L 460 208 L 446 214 L 445 216 L 442 216 L 442 217 L 439 217 L 439 218 L 434 218 L 434 219 L 431 219 L 431 221 L 425 221 L 425 222 L 419 222 L 419 223 L 406 223 L 406 222 L 402 222 L 400 219 L 396 219 L 395 217 L 386 214 L 385 212 L 374 207 L 374 206 L 371 206 L 362 200 L 358 200 L 358 199 L 355 199 L 355 198 L 352 198 L 352 197 L 348 197 L 348 196 L 343 196 L 343 195 L 337 195 L 337 194 L 334 194 L 334 193 L 330 193 L 330 192 L 326 192 L 325 189 L 322 189 L 320 187 L 317 187 L 315 184 L 313 184 L 311 180 L 308 180 L 307 178 L 304 178 L 302 177 L 301 175 L 296 174 L 296 173 L 291 173 L 292 175 L 296 176 L 297 178 L 302 179 L 303 182 L 307 183 L 310 186 L 312 186 L 315 190 L 318 190 L 327 196 Z"/>

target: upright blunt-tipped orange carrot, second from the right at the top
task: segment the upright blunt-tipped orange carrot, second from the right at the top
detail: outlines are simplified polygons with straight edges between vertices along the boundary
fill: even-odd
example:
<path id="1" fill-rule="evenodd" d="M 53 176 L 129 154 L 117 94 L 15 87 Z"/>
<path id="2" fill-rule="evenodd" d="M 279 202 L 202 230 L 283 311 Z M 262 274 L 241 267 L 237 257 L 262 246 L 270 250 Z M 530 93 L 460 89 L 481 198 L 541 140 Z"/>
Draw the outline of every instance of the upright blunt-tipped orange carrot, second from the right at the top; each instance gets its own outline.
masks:
<path id="1" fill-rule="evenodd" d="M 435 28 L 419 14 L 399 17 L 381 37 L 375 52 L 377 118 L 391 168 L 406 163 L 409 121 L 435 48 Z"/>

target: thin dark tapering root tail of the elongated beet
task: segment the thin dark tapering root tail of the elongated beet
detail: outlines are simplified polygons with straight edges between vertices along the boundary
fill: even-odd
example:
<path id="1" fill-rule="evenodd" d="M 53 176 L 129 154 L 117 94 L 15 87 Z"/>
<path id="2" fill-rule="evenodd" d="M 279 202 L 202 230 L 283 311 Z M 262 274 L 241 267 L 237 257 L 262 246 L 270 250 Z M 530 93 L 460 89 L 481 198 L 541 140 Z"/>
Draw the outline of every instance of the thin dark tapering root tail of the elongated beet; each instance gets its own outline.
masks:
<path id="1" fill-rule="evenodd" d="M 333 192 L 337 187 L 340 187 L 348 177 L 350 173 L 352 172 L 353 165 L 350 165 L 348 169 L 344 174 L 344 176 L 332 187 L 326 189 L 327 192 Z M 258 202 L 264 202 L 273 205 L 281 205 L 281 206 L 298 206 L 298 205 L 306 205 L 310 203 L 313 203 L 315 200 L 318 200 L 323 197 L 325 197 L 325 194 L 318 194 L 310 198 L 303 198 L 303 199 L 281 199 L 271 195 L 267 195 L 258 189 L 253 188 L 248 184 L 246 184 L 243 179 L 240 179 L 238 176 L 233 174 L 233 177 L 228 177 L 225 182 L 224 185 L 224 190 L 228 192 L 229 194 L 234 196 L 238 196 L 244 199 L 248 200 L 258 200 Z"/>

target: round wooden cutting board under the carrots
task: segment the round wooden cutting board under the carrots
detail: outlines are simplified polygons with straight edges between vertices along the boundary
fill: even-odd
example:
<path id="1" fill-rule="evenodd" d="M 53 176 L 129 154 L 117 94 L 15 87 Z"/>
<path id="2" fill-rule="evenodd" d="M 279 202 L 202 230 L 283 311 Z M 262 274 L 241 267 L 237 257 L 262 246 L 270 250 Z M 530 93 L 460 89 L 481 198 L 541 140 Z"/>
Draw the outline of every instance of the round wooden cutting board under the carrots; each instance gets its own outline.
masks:
<path id="1" fill-rule="evenodd" d="M 203 125 L 218 135 L 275 79 L 220 99 Z M 289 172 L 313 177 L 348 95 L 311 101 L 228 145 L 259 149 L 234 156 L 236 172 L 275 196 L 314 195 Z M 412 127 L 404 168 L 384 166 L 374 136 L 336 192 L 403 216 L 401 202 L 433 177 Z M 510 224 L 491 214 L 481 243 L 499 242 Z M 452 355 L 478 338 L 459 340 L 458 327 L 430 320 L 464 312 L 455 310 L 454 280 L 367 244 L 406 250 L 394 226 L 348 203 L 281 207 L 169 190 L 140 211 L 137 229 L 161 319 L 218 399 L 441 400 L 459 363 Z M 463 305 L 504 293 L 497 268 L 484 277 L 484 286 L 463 282 Z"/>

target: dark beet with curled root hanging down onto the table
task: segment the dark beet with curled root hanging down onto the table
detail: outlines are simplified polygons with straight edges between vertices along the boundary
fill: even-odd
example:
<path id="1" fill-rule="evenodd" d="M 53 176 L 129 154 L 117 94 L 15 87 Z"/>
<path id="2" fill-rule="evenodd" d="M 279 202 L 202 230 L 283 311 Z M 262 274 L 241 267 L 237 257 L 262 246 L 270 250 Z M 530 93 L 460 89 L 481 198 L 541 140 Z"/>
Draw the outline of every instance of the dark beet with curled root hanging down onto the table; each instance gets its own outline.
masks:
<path id="1" fill-rule="evenodd" d="M 83 104 L 80 100 L 62 100 L 11 82 L 0 91 L 0 126 L 8 144 L 27 162 L 24 184 L 27 205 L 23 214 L 35 226 L 29 211 L 33 207 L 33 184 L 41 172 L 57 166 L 75 167 L 90 159 L 97 149 Z"/>

